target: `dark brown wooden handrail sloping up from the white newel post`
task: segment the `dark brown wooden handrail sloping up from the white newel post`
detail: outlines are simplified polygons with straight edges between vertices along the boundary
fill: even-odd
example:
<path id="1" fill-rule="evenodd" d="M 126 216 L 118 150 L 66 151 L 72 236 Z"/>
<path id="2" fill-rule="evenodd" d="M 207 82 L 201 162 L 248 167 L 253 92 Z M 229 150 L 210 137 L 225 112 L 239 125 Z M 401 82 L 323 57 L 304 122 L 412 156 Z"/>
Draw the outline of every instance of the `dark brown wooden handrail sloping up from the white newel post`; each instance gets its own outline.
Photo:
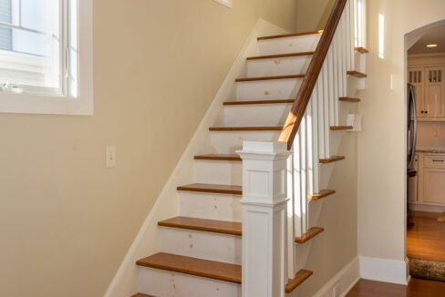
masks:
<path id="1" fill-rule="evenodd" d="M 287 149 L 291 149 L 294 144 L 296 132 L 300 127 L 302 119 L 305 117 L 305 110 L 311 99 L 312 92 L 316 87 L 316 81 L 320 75 L 323 64 L 325 63 L 327 52 L 336 35 L 336 27 L 340 22 L 346 5 L 347 0 L 336 0 L 336 4 L 327 19 L 325 30 L 320 37 L 318 46 L 316 46 L 316 52 L 309 64 L 303 83 L 298 91 L 298 95 L 295 98 L 294 105 L 292 106 L 289 116 L 287 116 L 285 127 L 279 138 L 280 141 L 287 142 Z"/>

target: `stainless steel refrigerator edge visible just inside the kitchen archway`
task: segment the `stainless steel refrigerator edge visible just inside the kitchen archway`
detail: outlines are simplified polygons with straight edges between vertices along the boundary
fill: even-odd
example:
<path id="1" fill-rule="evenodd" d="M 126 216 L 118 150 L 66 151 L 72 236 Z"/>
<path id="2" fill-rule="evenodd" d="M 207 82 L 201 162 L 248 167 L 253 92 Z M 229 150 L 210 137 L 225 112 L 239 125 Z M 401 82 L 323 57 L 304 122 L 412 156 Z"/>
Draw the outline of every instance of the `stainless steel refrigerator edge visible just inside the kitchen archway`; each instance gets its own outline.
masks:
<path id="1" fill-rule="evenodd" d="M 409 183 L 417 182 L 418 172 L 415 168 L 416 145 L 417 145 L 417 110 L 416 110 L 416 90 L 411 84 L 408 85 L 408 156 L 407 156 L 407 210 L 409 216 L 409 188 L 417 189 L 417 187 L 409 187 Z M 417 196 L 417 195 L 416 195 Z"/>

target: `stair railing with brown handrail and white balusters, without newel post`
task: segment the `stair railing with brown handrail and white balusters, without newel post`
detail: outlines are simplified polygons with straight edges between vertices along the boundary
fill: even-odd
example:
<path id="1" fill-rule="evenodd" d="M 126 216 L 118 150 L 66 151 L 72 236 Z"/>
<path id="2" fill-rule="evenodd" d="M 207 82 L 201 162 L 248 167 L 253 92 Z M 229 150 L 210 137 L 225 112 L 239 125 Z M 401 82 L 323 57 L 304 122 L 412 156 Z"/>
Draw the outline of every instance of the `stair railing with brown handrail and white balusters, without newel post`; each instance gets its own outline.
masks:
<path id="1" fill-rule="evenodd" d="M 317 220 L 309 216 L 308 197 L 320 193 L 319 161 L 332 157 L 337 145 L 331 143 L 330 130 L 340 125 L 338 99 L 347 97 L 347 71 L 355 70 L 356 48 L 366 46 L 366 5 L 366 0 L 336 0 L 304 81 L 296 86 L 295 102 L 279 138 L 287 149 L 294 148 L 287 176 L 292 196 L 287 228 L 291 279 L 305 258 L 296 253 L 294 239 L 315 227 Z"/>

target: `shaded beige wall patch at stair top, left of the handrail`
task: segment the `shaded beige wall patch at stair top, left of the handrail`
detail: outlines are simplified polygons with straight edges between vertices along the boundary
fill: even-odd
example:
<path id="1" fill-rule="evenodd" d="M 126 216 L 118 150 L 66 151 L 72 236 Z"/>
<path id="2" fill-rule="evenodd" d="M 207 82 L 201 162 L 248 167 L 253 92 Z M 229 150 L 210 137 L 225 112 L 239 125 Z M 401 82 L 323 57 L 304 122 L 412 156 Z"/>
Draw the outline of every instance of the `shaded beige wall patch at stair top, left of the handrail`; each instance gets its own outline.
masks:
<path id="1" fill-rule="evenodd" d="M 298 0 L 296 29 L 298 32 L 325 28 L 325 23 L 335 0 Z"/>

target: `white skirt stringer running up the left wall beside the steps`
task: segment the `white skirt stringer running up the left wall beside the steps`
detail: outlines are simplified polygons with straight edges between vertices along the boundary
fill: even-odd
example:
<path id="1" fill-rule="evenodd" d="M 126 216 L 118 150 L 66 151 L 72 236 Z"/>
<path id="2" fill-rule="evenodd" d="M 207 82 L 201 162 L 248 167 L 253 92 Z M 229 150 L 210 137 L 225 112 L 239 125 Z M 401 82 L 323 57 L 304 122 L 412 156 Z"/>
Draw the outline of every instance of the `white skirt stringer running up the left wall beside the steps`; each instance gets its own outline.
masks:
<path id="1" fill-rule="evenodd" d="M 194 160 L 193 156 L 213 151 L 211 146 L 211 132 L 209 127 L 223 117 L 223 102 L 236 94 L 236 85 L 233 81 L 237 77 L 243 77 L 246 73 L 245 60 L 248 56 L 259 55 L 257 37 L 288 34 L 289 32 L 278 26 L 259 19 L 250 36 L 246 39 L 240 54 L 237 56 L 233 67 L 223 81 L 222 87 L 212 100 L 210 108 L 194 133 L 184 153 L 181 155 L 177 166 L 172 171 L 170 178 L 160 192 L 158 199 L 151 208 L 146 220 L 144 220 L 135 240 L 119 266 L 112 282 L 109 284 L 105 297 L 130 296 L 140 292 L 140 269 L 135 262 L 147 254 L 160 250 L 158 221 L 178 216 L 180 213 L 180 200 L 176 187 L 181 184 L 193 182 Z M 150 272 L 146 271 L 146 274 Z M 174 273 L 173 273 L 174 274 Z M 168 273 L 167 273 L 168 275 Z M 192 278 L 191 278 L 192 279 Z M 229 290 L 229 289 L 228 289 Z M 232 289 L 230 289 L 232 290 Z"/>

